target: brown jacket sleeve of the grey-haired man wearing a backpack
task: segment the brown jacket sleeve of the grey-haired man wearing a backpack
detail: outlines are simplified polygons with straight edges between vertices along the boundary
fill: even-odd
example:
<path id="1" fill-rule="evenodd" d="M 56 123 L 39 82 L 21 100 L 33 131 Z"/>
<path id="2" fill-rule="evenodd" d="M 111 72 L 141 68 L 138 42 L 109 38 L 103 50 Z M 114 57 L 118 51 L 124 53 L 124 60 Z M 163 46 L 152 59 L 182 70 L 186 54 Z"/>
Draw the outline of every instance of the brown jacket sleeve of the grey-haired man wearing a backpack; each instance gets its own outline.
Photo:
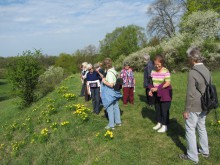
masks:
<path id="1" fill-rule="evenodd" d="M 185 103 L 186 112 L 189 112 L 191 110 L 193 104 L 193 100 L 196 93 L 195 84 L 196 84 L 196 80 L 193 76 L 192 71 L 190 71 L 188 75 L 188 84 L 187 84 L 187 92 L 186 92 L 186 103 Z"/>

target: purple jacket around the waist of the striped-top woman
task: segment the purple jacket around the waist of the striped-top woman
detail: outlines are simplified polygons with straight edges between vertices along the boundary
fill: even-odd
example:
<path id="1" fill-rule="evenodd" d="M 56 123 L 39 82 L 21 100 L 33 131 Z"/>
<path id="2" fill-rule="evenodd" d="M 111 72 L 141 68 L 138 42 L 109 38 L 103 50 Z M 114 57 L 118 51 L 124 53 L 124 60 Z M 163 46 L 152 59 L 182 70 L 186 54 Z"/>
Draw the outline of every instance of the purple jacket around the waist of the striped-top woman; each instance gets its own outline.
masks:
<path id="1" fill-rule="evenodd" d="M 157 97 L 160 97 L 160 101 L 171 101 L 172 100 L 172 86 L 162 88 L 164 83 L 160 84 L 157 88 Z M 153 88 L 153 85 L 148 85 L 148 88 Z"/>

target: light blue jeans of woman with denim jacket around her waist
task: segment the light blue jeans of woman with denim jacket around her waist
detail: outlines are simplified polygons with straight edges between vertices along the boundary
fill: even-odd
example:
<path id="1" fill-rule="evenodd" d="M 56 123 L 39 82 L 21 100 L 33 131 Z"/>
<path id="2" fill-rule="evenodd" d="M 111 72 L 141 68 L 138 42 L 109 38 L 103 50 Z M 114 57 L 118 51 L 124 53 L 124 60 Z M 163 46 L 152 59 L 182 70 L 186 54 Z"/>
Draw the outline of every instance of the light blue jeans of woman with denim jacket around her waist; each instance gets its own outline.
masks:
<path id="1" fill-rule="evenodd" d="M 121 124 L 121 115 L 120 109 L 118 106 L 118 101 L 114 101 L 108 108 L 108 118 L 109 118 L 109 127 L 115 127 L 115 124 Z"/>

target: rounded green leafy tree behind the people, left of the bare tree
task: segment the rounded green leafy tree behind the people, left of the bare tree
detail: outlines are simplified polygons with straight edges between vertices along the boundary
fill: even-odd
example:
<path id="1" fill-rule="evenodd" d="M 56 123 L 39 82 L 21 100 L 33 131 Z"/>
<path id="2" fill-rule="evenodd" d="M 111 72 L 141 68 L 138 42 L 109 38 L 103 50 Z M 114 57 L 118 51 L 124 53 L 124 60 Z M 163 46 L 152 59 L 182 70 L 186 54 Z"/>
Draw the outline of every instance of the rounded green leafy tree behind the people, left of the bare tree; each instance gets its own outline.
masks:
<path id="1" fill-rule="evenodd" d="M 136 25 L 118 27 L 106 34 L 100 41 L 100 54 L 103 58 L 116 60 L 120 55 L 129 55 L 146 46 L 144 29 Z"/>

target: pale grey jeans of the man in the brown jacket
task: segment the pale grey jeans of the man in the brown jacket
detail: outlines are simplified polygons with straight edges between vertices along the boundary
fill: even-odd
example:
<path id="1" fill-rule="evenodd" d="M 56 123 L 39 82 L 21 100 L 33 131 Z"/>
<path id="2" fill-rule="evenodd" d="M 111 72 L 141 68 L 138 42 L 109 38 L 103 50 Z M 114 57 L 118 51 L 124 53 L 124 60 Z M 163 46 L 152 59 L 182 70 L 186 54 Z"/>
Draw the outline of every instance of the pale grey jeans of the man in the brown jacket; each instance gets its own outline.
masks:
<path id="1" fill-rule="evenodd" d="M 196 142 L 196 129 L 199 135 L 199 151 L 203 154 L 209 154 L 208 136 L 205 127 L 206 112 L 190 112 L 186 119 L 186 142 L 188 157 L 198 162 L 198 147 Z"/>

